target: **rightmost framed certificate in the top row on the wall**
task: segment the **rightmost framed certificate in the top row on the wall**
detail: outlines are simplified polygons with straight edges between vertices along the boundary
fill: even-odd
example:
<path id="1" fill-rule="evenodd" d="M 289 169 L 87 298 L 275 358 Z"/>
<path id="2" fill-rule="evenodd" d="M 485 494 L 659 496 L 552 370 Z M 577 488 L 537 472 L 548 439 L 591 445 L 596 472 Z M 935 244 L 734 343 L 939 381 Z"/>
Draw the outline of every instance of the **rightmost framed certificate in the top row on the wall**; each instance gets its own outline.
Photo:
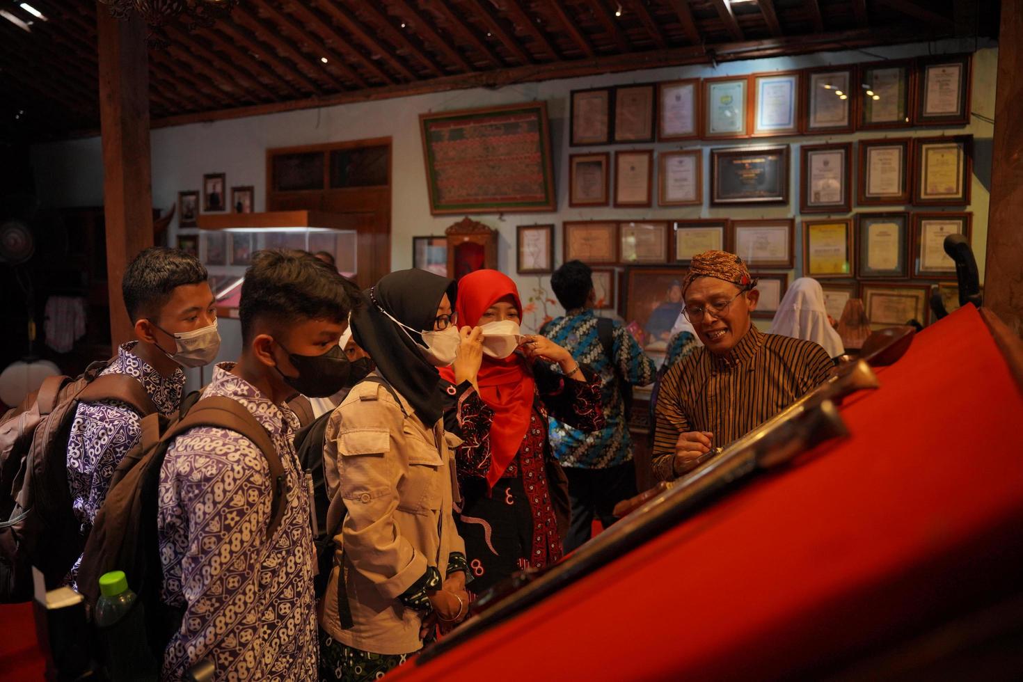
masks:
<path id="1" fill-rule="evenodd" d="M 971 63 L 969 54 L 917 60 L 915 124 L 965 126 L 970 123 Z"/>

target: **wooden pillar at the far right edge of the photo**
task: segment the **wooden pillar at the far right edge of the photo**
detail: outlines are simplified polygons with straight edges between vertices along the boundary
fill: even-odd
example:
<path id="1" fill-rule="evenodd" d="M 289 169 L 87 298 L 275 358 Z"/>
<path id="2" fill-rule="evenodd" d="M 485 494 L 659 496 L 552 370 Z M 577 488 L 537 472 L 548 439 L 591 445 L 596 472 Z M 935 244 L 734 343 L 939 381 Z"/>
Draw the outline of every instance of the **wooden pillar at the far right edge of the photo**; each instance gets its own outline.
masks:
<path id="1" fill-rule="evenodd" d="M 1003 0 L 984 305 L 1023 335 L 1023 0 Z"/>

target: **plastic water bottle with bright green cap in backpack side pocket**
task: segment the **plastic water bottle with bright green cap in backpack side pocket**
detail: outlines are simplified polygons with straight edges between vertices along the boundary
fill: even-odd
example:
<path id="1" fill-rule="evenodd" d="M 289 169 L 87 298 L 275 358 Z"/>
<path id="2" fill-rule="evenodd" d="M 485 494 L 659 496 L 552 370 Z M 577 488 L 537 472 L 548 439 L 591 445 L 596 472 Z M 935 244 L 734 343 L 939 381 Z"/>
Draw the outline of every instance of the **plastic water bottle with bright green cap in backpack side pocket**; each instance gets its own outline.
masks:
<path id="1" fill-rule="evenodd" d="M 157 664 L 146 639 L 142 602 L 128 588 L 124 571 L 100 576 L 99 591 L 95 622 L 107 679 L 155 680 Z"/>

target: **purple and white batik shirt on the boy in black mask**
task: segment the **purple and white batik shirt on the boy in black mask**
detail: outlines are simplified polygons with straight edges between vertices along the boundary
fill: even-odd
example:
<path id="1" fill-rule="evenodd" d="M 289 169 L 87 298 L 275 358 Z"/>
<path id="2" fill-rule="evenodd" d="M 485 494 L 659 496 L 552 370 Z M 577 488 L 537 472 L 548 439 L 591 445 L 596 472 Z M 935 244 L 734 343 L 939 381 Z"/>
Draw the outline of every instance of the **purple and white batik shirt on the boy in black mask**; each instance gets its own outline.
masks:
<path id="1" fill-rule="evenodd" d="M 230 374 L 232 366 L 217 365 L 203 397 L 233 398 L 266 427 L 287 476 L 286 507 L 268 542 L 270 469 L 249 439 L 199 427 L 171 444 L 157 525 L 163 597 L 185 615 L 162 679 L 187 679 L 207 658 L 218 680 L 315 680 L 315 557 L 309 490 L 293 445 L 299 420 Z"/>

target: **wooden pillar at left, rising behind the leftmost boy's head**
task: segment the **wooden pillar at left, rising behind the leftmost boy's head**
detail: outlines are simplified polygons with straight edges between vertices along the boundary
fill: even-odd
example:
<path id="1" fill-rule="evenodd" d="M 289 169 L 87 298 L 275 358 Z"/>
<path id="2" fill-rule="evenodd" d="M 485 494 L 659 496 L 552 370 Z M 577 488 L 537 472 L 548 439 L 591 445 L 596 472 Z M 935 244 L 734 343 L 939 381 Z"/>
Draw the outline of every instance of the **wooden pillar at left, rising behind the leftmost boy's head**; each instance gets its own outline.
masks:
<path id="1" fill-rule="evenodd" d="M 146 28 L 133 15 L 120 21 L 99 4 L 99 119 L 103 144 L 103 213 L 110 339 L 133 336 L 121 297 L 128 262 L 152 245 L 149 170 L 149 70 Z"/>

